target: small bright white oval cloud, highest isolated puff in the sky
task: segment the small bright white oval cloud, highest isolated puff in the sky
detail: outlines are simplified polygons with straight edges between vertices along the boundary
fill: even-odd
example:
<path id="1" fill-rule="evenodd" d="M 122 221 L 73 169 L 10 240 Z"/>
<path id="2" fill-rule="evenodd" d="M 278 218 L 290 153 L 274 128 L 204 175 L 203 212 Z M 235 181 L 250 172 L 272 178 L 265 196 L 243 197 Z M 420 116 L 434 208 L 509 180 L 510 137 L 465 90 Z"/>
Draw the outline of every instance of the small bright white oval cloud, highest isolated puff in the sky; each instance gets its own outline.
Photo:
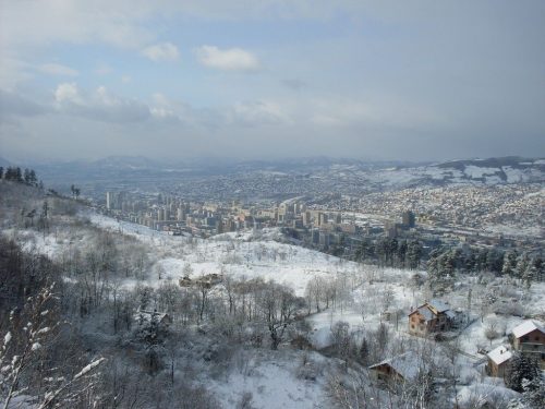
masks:
<path id="1" fill-rule="evenodd" d="M 250 51 L 241 48 L 219 49 L 215 46 L 202 46 L 196 50 L 198 62 L 205 67 L 225 71 L 255 71 L 261 64 Z"/>

